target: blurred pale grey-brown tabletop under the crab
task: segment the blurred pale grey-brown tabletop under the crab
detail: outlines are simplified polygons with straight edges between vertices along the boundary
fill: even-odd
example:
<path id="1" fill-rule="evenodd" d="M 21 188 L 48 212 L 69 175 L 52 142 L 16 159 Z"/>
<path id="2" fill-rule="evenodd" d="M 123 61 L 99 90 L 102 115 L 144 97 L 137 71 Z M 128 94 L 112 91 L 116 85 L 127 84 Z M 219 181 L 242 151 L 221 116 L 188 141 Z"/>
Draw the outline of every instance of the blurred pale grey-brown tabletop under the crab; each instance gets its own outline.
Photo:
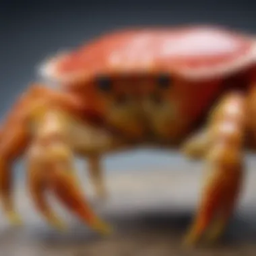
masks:
<path id="1" fill-rule="evenodd" d="M 102 218 L 115 227 L 108 237 L 97 236 L 67 214 L 56 201 L 53 207 L 63 215 L 70 229 L 53 230 L 34 211 L 24 183 L 16 185 L 16 202 L 24 226 L 11 228 L 0 222 L 1 256 L 52 255 L 256 255 L 256 172 L 245 172 L 245 187 L 234 219 L 226 230 L 223 243 L 214 248 L 183 251 L 180 243 L 185 234 L 200 192 L 200 168 L 189 164 L 172 169 L 108 172 L 109 197 L 95 201 L 87 179 L 84 189 Z M 189 168 L 188 168 L 189 167 Z M 193 169 L 193 170 L 192 170 Z"/>

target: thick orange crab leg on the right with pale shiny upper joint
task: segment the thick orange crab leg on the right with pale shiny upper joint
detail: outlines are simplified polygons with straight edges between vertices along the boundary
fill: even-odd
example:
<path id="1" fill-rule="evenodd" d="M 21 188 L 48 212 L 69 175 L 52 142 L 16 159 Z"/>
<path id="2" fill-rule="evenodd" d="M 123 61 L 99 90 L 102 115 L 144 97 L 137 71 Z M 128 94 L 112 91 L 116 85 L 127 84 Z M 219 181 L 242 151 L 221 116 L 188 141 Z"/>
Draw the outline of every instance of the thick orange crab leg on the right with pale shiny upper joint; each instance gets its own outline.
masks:
<path id="1" fill-rule="evenodd" d="M 230 93 L 212 113 L 207 127 L 211 136 L 207 150 L 207 179 L 195 220 L 185 237 L 185 245 L 194 245 L 210 224 L 207 240 L 214 241 L 234 210 L 243 180 L 243 135 L 245 133 L 245 96 Z"/>

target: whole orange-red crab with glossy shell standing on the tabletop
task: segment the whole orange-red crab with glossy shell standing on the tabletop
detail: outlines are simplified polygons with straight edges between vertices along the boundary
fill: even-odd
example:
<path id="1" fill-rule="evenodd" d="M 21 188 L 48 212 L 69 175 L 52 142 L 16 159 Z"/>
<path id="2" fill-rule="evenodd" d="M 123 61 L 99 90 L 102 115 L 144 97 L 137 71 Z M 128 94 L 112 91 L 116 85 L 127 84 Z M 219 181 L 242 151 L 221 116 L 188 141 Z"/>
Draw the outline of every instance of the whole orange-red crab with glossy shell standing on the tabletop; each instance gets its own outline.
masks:
<path id="1" fill-rule="evenodd" d="M 243 152 L 254 149 L 256 43 L 220 26 L 129 28 L 59 53 L 40 66 L 1 128 L 0 193 L 12 223 L 11 168 L 24 158 L 28 189 L 50 224 L 51 191 L 92 230 L 112 228 L 85 198 L 73 166 L 88 161 L 99 197 L 106 195 L 102 156 L 135 147 L 174 148 L 205 161 L 197 214 L 185 238 L 217 241 L 239 199 Z M 39 81 L 39 80 L 38 80 Z M 49 87 L 48 85 L 55 86 Z"/>

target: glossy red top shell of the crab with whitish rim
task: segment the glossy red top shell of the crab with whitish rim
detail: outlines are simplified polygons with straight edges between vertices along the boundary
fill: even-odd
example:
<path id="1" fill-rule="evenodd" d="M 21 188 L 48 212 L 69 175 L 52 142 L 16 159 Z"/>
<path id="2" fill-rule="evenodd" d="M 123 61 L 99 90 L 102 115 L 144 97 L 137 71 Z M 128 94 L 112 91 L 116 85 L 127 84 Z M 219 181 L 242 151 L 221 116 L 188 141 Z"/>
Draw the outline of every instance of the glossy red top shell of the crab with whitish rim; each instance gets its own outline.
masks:
<path id="1" fill-rule="evenodd" d="M 216 26 L 144 28 L 112 32 L 75 51 L 57 55 L 42 75 L 63 84 L 97 73 L 169 72 L 188 79 L 223 76 L 254 63 L 251 36 Z"/>

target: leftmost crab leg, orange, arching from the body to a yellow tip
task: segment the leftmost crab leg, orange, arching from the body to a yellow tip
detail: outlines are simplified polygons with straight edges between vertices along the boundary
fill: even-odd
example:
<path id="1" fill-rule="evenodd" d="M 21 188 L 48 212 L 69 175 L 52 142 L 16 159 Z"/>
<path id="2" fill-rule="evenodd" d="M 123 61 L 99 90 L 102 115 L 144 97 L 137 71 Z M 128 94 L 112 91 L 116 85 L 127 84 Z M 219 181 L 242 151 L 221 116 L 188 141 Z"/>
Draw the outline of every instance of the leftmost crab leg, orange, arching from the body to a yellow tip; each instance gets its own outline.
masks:
<path id="1" fill-rule="evenodd" d="M 75 100 L 68 95 L 58 94 L 44 88 L 44 86 L 33 85 L 28 92 L 16 102 L 11 112 L 3 123 L 0 132 L 0 196 L 3 211 L 9 221 L 13 224 L 21 220 L 13 207 L 11 192 L 11 170 L 12 163 L 20 158 L 25 152 L 30 141 L 29 119 L 31 115 L 38 112 L 38 108 L 44 103 L 55 99 L 63 106 L 75 106 Z"/>

